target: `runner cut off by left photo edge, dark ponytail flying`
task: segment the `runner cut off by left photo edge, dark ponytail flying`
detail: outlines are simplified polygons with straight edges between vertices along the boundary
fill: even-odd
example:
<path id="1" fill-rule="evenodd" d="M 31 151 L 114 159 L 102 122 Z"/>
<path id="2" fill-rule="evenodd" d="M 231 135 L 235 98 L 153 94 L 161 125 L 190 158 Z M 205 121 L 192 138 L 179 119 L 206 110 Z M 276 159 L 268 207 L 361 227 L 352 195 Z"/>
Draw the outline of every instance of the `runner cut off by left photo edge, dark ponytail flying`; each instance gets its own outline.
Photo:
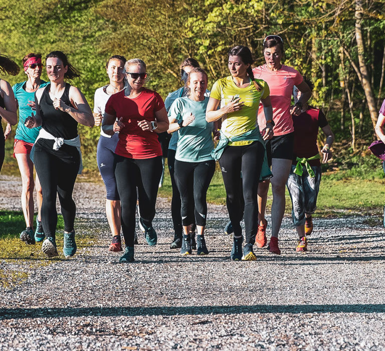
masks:
<path id="1" fill-rule="evenodd" d="M 19 66 L 7 56 L 0 54 L 0 73 L 16 76 L 19 73 Z M 2 118 L 9 124 L 15 125 L 18 122 L 16 113 L 17 107 L 15 102 L 15 94 L 10 83 L 4 79 L 0 79 L 0 123 Z M 0 128 L 0 171 L 3 167 L 5 156 L 6 139 L 4 130 Z"/>

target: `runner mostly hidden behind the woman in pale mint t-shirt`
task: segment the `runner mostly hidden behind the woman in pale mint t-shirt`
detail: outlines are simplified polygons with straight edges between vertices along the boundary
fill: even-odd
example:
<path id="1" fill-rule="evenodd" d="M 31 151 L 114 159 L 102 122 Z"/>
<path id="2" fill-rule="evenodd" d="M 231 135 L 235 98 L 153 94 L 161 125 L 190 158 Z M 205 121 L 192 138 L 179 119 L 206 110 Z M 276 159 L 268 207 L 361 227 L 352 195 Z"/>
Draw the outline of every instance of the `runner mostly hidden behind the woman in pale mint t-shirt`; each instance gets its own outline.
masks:
<path id="1" fill-rule="evenodd" d="M 164 106 L 166 111 L 168 112 L 172 103 L 175 99 L 186 96 L 187 88 L 185 87 L 188 73 L 194 68 L 200 67 L 198 61 L 193 58 L 187 58 L 180 64 L 180 78 L 184 84 L 183 87 L 169 93 L 166 99 L 164 100 Z M 206 96 L 209 96 L 209 92 L 207 92 Z M 168 144 L 168 170 L 170 172 L 171 179 L 171 188 L 172 188 L 172 198 L 171 198 L 171 218 L 174 229 L 174 239 L 170 245 L 170 249 L 180 249 L 182 247 L 182 218 L 180 216 L 180 207 L 181 200 L 178 187 L 176 186 L 175 178 L 174 178 L 174 166 L 175 166 L 175 153 L 176 153 L 176 144 L 178 142 L 178 133 L 172 133 L 170 142 Z M 195 224 L 190 226 L 190 238 L 191 238 L 191 247 L 195 250 L 196 240 L 195 240 Z"/>

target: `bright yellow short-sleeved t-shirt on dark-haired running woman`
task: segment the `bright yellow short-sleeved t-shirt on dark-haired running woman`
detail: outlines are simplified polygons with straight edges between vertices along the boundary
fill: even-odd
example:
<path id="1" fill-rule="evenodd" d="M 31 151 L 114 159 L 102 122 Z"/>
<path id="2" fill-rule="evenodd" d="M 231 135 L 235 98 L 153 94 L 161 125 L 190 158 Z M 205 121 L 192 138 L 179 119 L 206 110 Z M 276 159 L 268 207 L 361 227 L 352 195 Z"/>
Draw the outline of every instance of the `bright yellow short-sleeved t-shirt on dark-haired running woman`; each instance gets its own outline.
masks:
<path id="1" fill-rule="evenodd" d="M 239 88 L 235 85 L 233 77 L 218 79 L 211 89 L 210 97 L 221 101 L 221 108 L 231 102 L 233 96 L 240 97 L 244 101 L 241 110 L 228 113 L 222 117 L 222 131 L 227 137 L 232 137 L 248 132 L 258 127 L 258 107 L 261 99 L 270 95 L 270 89 L 267 83 L 262 79 L 256 81 L 263 87 L 258 91 L 253 82 L 246 88 Z M 241 146 L 249 145 L 253 141 L 235 141 L 229 142 L 229 145 Z"/>

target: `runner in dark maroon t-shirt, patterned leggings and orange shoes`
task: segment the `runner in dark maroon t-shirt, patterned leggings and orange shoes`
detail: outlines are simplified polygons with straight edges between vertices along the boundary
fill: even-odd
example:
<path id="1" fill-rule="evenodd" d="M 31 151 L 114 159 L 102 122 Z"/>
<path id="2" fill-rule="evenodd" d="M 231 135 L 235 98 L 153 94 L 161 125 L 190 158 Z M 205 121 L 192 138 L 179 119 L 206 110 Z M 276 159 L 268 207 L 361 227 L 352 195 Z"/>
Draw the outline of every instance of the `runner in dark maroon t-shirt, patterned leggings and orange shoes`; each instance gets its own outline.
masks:
<path id="1" fill-rule="evenodd" d="M 313 88 L 311 82 L 304 80 Z M 295 86 L 293 90 L 294 102 L 297 103 L 301 91 Z M 311 215 L 317 208 L 317 196 L 321 182 L 321 156 L 318 153 L 317 136 L 319 128 L 326 135 L 326 142 L 321 149 L 322 162 L 331 158 L 330 147 L 334 141 L 325 115 L 321 110 L 311 107 L 304 102 L 302 112 L 293 115 L 294 126 L 294 157 L 292 161 L 287 189 L 292 202 L 292 219 L 299 235 L 296 251 L 307 250 L 307 236 L 313 230 Z"/>

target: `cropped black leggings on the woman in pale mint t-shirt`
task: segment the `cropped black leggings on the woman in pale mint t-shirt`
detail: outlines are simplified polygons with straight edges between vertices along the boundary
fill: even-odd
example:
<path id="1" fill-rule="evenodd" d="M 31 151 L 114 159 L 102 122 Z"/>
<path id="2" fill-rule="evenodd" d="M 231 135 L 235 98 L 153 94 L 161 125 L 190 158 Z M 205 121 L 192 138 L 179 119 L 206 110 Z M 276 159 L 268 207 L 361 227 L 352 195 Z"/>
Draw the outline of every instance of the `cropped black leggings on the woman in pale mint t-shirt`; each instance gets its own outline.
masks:
<path id="1" fill-rule="evenodd" d="M 183 162 L 175 160 L 175 181 L 182 202 L 182 225 L 206 226 L 206 194 L 215 172 L 215 161 Z M 194 201 L 193 201 L 194 199 Z"/>

